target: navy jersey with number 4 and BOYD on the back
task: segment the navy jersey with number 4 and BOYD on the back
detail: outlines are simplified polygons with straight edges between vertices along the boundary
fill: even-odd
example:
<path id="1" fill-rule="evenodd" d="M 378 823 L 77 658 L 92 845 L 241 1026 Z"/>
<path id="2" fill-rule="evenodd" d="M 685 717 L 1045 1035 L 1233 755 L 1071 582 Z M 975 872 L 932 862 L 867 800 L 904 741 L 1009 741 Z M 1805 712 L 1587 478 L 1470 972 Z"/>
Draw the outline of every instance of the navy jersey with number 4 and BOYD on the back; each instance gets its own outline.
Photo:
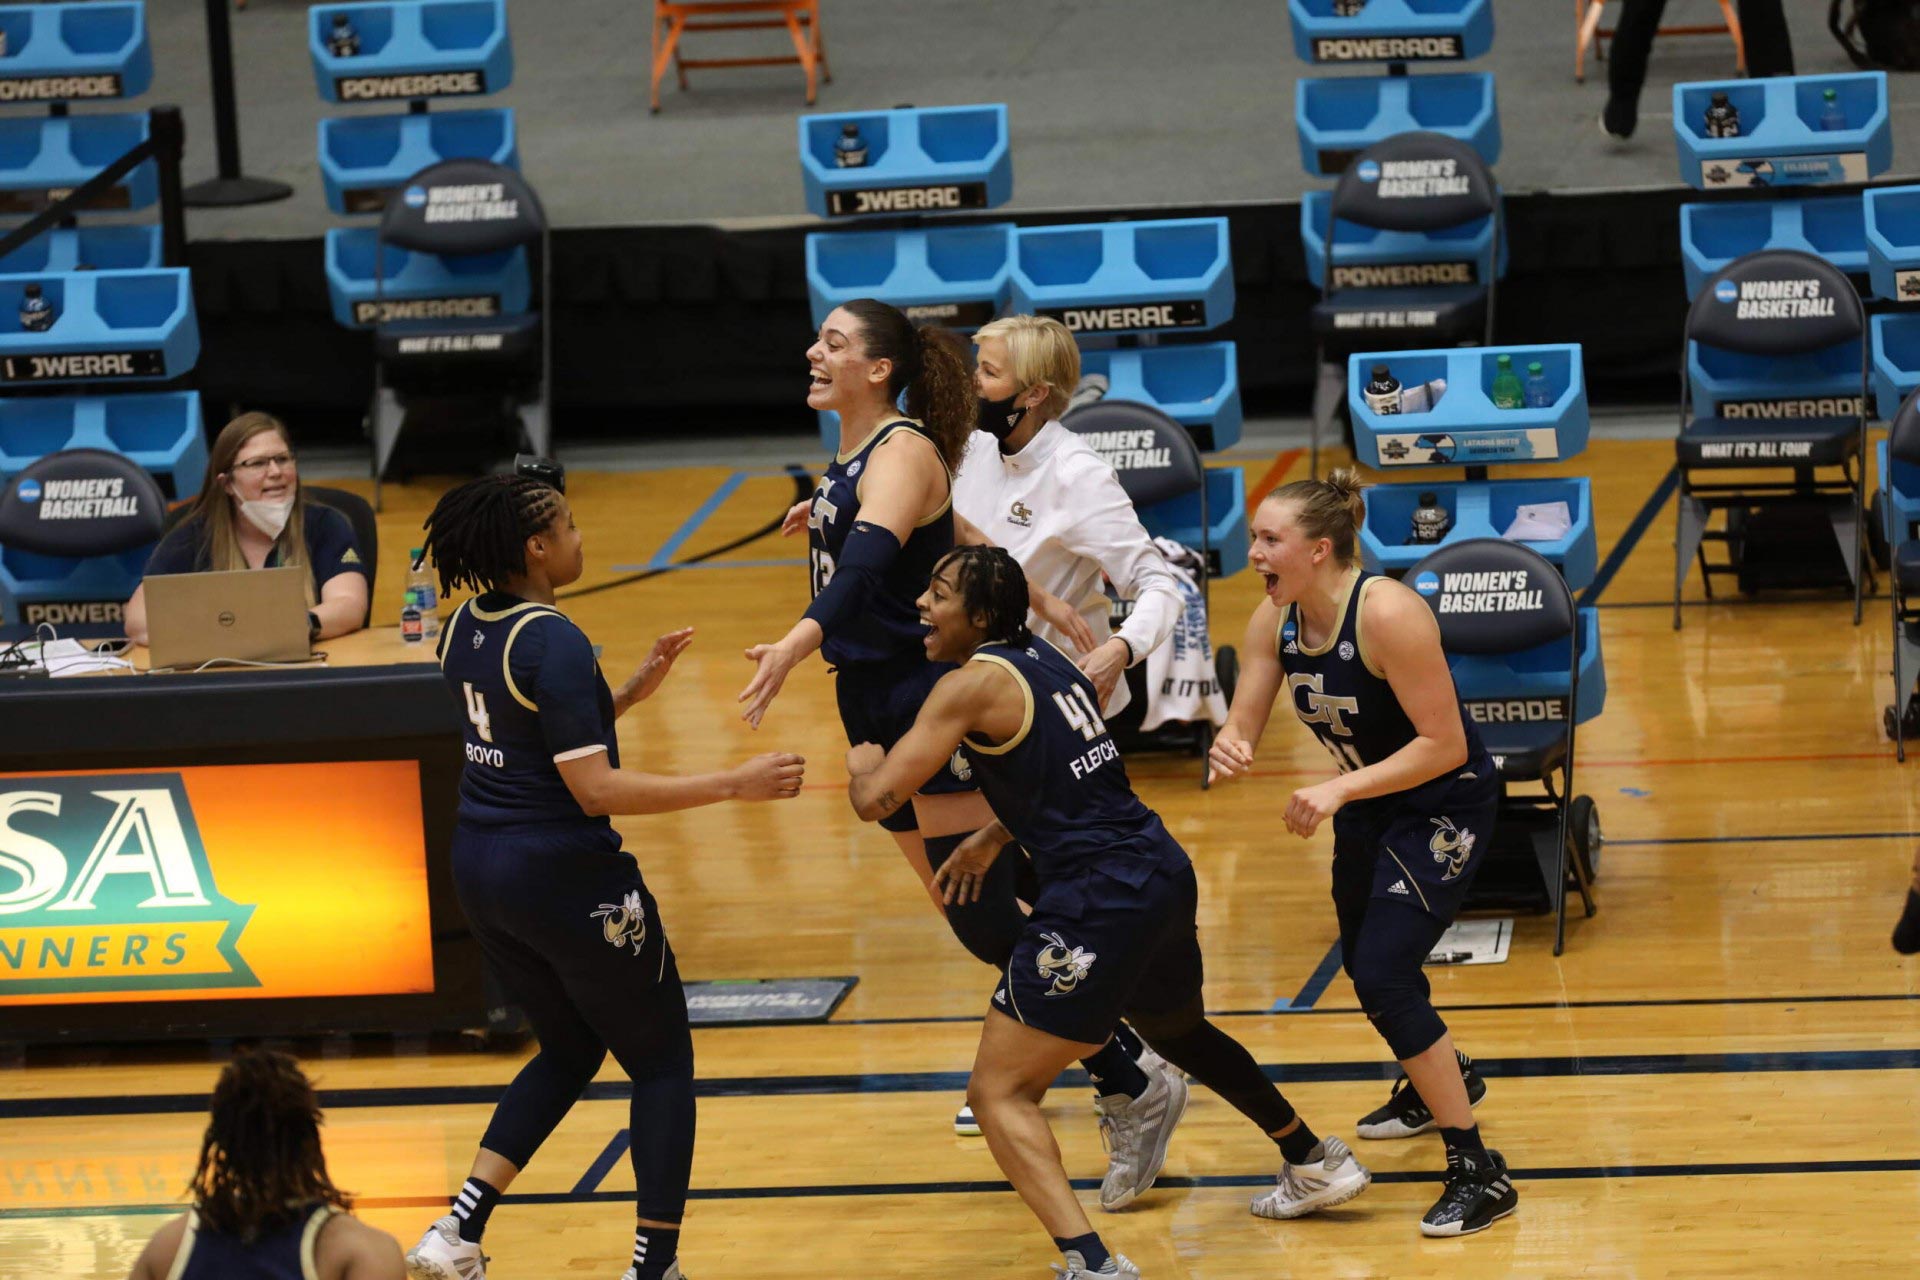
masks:
<path id="1" fill-rule="evenodd" d="M 559 770 L 595 750 L 620 768 L 612 691 L 586 631 L 551 604 L 488 591 L 442 628 L 440 670 L 467 722 L 461 821 L 612 827 L 580 808 Z"/>

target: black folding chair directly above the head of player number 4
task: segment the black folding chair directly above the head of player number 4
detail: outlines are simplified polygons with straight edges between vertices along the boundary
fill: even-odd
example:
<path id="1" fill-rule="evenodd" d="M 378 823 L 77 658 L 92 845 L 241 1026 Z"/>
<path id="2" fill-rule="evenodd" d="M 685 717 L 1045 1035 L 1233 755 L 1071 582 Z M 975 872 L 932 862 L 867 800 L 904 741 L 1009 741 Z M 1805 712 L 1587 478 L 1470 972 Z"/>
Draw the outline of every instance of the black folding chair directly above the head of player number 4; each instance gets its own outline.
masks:
<path id="1" fill-rule="evenodd" d="M 438 188 L 499 188 L 495 217 L 445 217 L 434 203 Z M 488 209 L 478 209 L 488 213 Z M 513 169 L 484 159 L 447 159 L 409 178 L 405 196 L 380 215 L 374 253 L 374 305 L 386 307 L 388 246 L 434 253 L 449 263 L 476 263 L 476 290 L 488 278 L 488 255 L 511 261 L 534 251 L 538 311 L 513 311 L 503 297 L 495 315 L 382 319 L 374 328 L 372 436 L 374 510 L 380 480 L 411 422 L 447 420 L 463 436 L 492 424 L 511 428 L 516 447 L 551 453 L 551 326 L 553 255 L 547 215 L 534 188 Z M 495 278 L 501 274 L 493 273 Z M 505 292 L 505 290 L 503 290 Z M 401 301 L 394 303 L 403 305 Z M 386 315 L 380 311 L 380 315 Z"/>

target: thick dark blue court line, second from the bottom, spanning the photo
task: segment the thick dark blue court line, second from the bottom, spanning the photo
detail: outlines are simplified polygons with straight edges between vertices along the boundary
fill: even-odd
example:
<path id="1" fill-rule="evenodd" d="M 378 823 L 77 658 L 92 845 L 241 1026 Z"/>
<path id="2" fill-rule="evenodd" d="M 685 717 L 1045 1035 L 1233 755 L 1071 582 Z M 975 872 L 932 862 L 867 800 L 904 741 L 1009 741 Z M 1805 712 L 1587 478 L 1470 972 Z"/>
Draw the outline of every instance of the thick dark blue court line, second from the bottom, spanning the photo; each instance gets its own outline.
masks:
<path id="1" fill-rule="evenodd" d="M 1574 1057 L 1476 1057 L 1486 1077 L 1634 1077 L 1634 1075 L 1728 1075 L 1797 1071 L 1914 1071 L 1920 1048 L 1907 1050 L 1803 1050 L 1741 1054 L 1601 1054 Z M 1392 1080 L 1392 1061 L 1263 1065 L 1277 1084 L 1350 1084 Z M 816 1098 L 828 1094 L 958 1094 L 966 1071 L 897 1071 L 870 1075 L 710 1077 L 693 1080 L 697 1098 Z M 1085 1071 L 1062 1071 L 1060 1088 L 1087 1084 Z M 321 1090 L 326 1109 L 359 1107 L 478 1107 L 493 1105 L 505 1084 L 426 1084 L 394 1088 Z M 582 1094 L 591 1102 L 626 1102 L 626 1080 L 595 1080 Z M 54 1119 L 81 1115 L 190 1115 L 205 1111 L 205 1094 L 132 1094 L 104 1098 L 0 1100 L 0 1119 Z"/>

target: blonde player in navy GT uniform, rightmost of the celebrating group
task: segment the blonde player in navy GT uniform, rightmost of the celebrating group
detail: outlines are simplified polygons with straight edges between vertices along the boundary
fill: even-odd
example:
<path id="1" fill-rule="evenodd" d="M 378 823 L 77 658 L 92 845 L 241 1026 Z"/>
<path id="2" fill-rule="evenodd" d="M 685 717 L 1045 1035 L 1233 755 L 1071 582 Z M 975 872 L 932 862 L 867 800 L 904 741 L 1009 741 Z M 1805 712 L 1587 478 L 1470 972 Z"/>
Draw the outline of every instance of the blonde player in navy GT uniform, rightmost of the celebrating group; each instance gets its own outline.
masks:
<path id="1" fill-rule="evenodd" d="M 1267 599 L 1240 651 L 1240 685 L 1213 739 L 1213 777 L 1254 764 L 1281 685 L 1340 771 L 1286 802 L 1286 829 L 1313 835 L 1332 818 L 1332 902 L 1354 994 L 1405 1071 L 1363 1138 L 1438 1123 L 1446 1190 L 1421 1230 L 1476 1232 L 1513 1213 L 1519 1194 L 1500 1151 L 1473 1123 L 1486 1084 L 1428 1000 L 1421 971 L 1453 921 L 1494 831 L 1500 781 L 1467 720 L 1440 651 L 1432 610 L 1411 589 L 1354 562 L 1363 505 L 1352 470 L 1296 480 L 1252 520 L 1250 562 Z M 1411 1084 L 1409 1084 L 1411 1082 Z"/>

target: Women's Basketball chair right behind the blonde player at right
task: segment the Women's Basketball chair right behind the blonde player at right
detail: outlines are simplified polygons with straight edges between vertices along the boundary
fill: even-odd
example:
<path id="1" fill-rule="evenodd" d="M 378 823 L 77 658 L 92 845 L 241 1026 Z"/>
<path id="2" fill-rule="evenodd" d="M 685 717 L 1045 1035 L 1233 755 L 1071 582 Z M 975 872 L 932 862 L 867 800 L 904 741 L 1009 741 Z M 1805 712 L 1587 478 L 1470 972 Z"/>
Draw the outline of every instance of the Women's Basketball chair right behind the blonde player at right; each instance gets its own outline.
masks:
<path id="1" fill-rule="evenodd" d="M 1452 574 L 1524 574 L 1523 603 L 1500 610 L 1450 608 L 1459 599 Z M 1574 722 L 1580 712 L 1582 629 L 1594 628 L 1574 608 L 1567 581 L 1540 553 L 1500 537 L 1471 537 L 1423 558 L 1405 580 L 1434 610 L 1440 645 L 1453 668 L 1469 716 L 1500 770 L 1501 800 L 1490 854 L 1521 846 L 1538 869 L 1548 910 L 1555 913 L 1553 954 L 1567 946 L 1567 890 L 1594 915 L 1594 871 L 1599 819 L 1590 796 L 1574 796 Z M 1513 580 L 1507 580 L 1513 581 Z M 1526 593 L 1538 593 L 1526 599 Z M 1597 628 L 1594 631 L 1597 641 Z M 1515 793 L 1515 783 L 1540 793 Z M 1524 837 L 1524 839 L 1517 839 Z M 1473 898 L 1484 898 L 1498 871 L 1480 865 Z M 1526 877 L 1526 898 L 1538 902 Z"/>

